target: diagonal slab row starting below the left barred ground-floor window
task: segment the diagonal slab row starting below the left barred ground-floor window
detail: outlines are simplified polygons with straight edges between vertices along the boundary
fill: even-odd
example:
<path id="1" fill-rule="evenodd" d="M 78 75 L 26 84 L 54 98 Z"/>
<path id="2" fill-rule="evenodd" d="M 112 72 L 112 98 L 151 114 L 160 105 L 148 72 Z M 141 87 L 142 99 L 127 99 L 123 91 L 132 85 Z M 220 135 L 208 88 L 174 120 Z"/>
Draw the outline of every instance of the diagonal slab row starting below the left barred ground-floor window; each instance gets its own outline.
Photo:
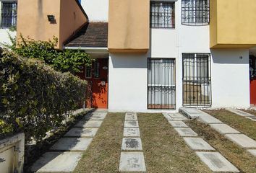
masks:
<path id="1" fill-rule="evenodd" d="M 192 112 L 192 114 L 194 114 L 189 116 L 192 118 L 200 115 L 200 112 L 197 112 L 196 110 L 189 109 L 188 112 Z M 234 167 L 234 165 L 231 164 L 225 157 L 216 152 L 215 148 L 210 146 L 210 144 L 202 138 L 197 137 L 197 133 L 182 122 L 182 120 L 187 119 L 186 117 L 179 113 L 163 113 L 163 116 L 166 117 L 177 133 L 184 138 L 184 141 L 187 143 L 189 148 L 196 151 L 197 156 L 199 156 L 202 162 L 204 162 L 213 172 L 239 172 L 239 170 Z M 210 119 L 213 120 L 213 122 L 216 122 L 215 119 Z"/>

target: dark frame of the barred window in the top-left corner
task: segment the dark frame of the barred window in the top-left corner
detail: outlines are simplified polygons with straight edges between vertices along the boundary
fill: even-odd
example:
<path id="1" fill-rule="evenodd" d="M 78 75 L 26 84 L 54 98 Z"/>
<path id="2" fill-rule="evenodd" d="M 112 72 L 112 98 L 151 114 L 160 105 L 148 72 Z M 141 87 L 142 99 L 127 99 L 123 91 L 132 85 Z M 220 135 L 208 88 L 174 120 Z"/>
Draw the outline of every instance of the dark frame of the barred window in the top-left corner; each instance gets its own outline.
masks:
<path id="1" fill-rule="evenodd" d="M 0 28 L 1 29 L 9 29 L 12 27 L 17 27 L 17 1 L 0 1 L 1 3 L 1 9 L 0 9 Z M 3 17 L 4 14 L 4 4 L 12 4 L 12 17 Z M 10 8 L 10 6 L 8 6 Z M 11 9 L 11 8 L 10 8 Z M 15 12 L 16 11 L 16 12 Z M 7 22 L 3 22 L 5 20 L 12 21 L 11 24 Z"/>

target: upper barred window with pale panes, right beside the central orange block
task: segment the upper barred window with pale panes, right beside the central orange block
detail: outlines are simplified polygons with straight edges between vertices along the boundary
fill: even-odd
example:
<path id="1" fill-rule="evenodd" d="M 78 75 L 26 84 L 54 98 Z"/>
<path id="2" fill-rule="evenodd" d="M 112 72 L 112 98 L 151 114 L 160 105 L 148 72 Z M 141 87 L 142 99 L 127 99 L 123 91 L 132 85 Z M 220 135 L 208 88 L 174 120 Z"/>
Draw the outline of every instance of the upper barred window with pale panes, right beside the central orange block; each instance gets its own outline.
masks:
<path id="1" fill-rule="evenodd" d="M 174 2 L 150 2 L 150 27 L 175 27 Z"/>

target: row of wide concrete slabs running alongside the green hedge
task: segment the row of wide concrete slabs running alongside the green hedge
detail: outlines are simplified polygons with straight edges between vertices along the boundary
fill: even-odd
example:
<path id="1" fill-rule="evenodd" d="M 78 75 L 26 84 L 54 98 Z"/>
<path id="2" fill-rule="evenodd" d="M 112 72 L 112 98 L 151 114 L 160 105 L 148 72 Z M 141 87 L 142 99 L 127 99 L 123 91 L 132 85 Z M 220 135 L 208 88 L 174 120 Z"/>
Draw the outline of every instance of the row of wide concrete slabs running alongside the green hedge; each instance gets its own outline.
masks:
<path id="1" fill-rule="evenodd" d="M 50 151 L 35 161 L 31 172 L 73 172 L 107 115 L 107 112 L 98 111 L 86 114 L 74 125 L 75 128 L 70 129 Z"/>

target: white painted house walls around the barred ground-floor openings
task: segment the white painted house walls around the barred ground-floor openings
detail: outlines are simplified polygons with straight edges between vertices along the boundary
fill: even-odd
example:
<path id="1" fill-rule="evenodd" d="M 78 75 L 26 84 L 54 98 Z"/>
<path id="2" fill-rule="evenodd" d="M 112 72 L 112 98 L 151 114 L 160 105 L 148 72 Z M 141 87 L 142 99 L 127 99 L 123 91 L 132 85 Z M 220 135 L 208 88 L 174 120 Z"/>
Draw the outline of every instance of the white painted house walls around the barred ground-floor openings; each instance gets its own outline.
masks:
<path id="1" fill-rule="evenodd" d="M 82 0 L 82 6 L 90 22 L 108 22 L 108 0 Z M 109 55 L 108 110 L 177 112 L 183 106 L 182 53 L 211 54 L 211 107 L 249 107 L 249 50 L 210 50 L 209 25 L 182 25 L 182 0 L 175 1 L 175 21 L 173 29 L 150 29 L 147 54 Z M 176 110 L 148 110 L 148 58 L 175 58 Z"/>

